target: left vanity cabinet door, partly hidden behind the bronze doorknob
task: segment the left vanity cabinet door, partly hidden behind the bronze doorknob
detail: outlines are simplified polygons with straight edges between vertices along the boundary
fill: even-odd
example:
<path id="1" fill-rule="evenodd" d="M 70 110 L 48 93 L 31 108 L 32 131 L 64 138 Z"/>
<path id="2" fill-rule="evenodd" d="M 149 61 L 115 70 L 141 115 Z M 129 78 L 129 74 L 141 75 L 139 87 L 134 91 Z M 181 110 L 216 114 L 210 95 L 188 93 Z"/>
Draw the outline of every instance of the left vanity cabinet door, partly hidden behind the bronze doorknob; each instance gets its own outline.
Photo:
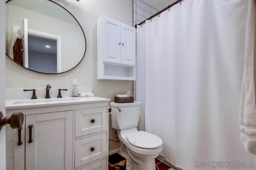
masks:
<path id="1" fill-rule="evenodd" d="M 24 119 L 25 122 L 25 119 Z M 6 125 L 6 170 L 25 170 L 25 123 L 20 129 L 18 145 L 18 129 Z"/>

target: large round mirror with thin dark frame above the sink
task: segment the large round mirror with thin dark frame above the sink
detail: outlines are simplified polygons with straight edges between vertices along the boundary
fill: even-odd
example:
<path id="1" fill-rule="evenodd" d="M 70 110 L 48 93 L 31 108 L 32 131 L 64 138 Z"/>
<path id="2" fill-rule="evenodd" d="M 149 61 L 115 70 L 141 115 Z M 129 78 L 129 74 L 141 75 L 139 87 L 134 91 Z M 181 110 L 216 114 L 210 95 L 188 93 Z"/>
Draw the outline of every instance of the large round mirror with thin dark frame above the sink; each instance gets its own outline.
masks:
<path id="1" fill-rule="evenodd" d="M 83 59 L 86 39 L 82 27 L 51 0 L 6 2 L 6 55 L 35 72 L 58 74 Z"/>

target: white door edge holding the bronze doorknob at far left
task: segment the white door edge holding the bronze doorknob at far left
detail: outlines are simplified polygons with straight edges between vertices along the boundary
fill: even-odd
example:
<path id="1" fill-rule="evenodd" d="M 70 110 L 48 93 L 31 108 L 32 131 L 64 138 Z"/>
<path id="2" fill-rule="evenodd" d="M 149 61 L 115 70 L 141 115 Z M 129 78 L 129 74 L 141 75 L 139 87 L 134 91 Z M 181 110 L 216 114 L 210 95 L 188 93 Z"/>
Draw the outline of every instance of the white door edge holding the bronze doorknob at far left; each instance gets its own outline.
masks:
<path id="1" fill-rule="evenodd" d="M 5 115 L 5 93 L 3 93 L 3 90 L 5 88 L 5 80 L 4 80 L 4 63 L 5 63 L 5 41 L 3 39 L 4 37 L 4 25 L 5 25 L 5 8 L 4 8 L 4 1 L 0 1 L 0 90 L 1 90 L 1 97 L 0 97 L 0 111 L 2 111 Z M 6 149 L 5 149 L 5 127 L 0 131 L 0 165 L 1 169 L 6 169 Z"/>

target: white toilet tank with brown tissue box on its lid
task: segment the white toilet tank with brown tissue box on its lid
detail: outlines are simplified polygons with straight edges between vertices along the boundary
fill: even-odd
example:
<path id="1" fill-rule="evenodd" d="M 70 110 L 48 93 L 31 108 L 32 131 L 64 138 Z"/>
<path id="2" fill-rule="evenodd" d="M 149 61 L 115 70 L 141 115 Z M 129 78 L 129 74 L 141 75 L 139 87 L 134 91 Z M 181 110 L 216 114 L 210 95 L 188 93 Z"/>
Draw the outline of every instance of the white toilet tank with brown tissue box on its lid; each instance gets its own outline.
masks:
<path id="1" fill-rule="evenodd" d="M 112 108 L 111 124 L 114 129 L 123 130 L 137 127 L 140 118 L 141 102 L 115 103 L 110 102 Z"/>

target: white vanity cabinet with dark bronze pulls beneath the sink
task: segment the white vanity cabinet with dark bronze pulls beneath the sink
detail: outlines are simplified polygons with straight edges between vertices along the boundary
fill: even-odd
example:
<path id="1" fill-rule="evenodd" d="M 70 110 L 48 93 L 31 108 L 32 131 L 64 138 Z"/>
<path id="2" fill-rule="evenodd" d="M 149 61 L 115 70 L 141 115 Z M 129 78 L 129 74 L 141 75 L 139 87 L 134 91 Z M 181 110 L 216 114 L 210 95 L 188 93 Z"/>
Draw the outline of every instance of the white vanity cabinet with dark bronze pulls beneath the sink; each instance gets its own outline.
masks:
<path id="1" fill-rule="evenodd" d="M 6 107 L 6 116 L 25 115 L 22 145 L 18 130 L 6 127 L 7 170 L 107 170 L 110 100 L 81 100 Z"/>

